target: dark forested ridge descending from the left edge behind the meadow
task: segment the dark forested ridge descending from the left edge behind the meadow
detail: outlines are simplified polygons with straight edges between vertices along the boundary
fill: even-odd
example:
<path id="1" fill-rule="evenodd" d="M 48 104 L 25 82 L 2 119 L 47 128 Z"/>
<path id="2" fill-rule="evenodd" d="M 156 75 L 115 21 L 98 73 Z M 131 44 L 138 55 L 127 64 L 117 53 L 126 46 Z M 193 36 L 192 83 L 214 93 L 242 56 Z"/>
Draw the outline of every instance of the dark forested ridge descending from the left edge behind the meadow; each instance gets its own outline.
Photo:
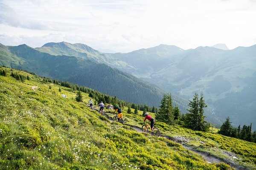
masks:
<path id="1" fill-rule="evenodd" d="M 53 56 L 27 45 L 3 46 L 1 49 L 6 53 L 0 54 L 0 61 L 7 67 L 85 85 L 119 99 L 143 105 L 158 106 L 163 96 L 160 88 L 91 60 L 64 55 Z"/>

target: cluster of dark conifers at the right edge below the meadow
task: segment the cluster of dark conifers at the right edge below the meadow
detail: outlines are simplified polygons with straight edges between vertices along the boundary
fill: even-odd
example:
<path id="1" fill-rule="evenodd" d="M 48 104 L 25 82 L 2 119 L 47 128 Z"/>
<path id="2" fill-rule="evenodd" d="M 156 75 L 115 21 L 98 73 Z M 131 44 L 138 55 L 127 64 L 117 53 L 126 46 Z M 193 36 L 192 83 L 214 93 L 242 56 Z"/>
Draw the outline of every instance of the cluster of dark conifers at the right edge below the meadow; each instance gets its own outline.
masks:
<path id="1" fill-rule="evenodd" d="M 227 117 L 226 121 L 223 123 L 223 125 L 221 125 L 221 129 L 218 131 L 218 133 L 224 136 L 230 136 L 233 138 L 256 143 L 256 131 L 253 133 L 251 132 L 252 124 L 249 126 L 244 125 L 243 127 L 240 125 L 238 127 L 233 127 L 231 123 L 232 122 L 230 122 L 230 118 Z"/>

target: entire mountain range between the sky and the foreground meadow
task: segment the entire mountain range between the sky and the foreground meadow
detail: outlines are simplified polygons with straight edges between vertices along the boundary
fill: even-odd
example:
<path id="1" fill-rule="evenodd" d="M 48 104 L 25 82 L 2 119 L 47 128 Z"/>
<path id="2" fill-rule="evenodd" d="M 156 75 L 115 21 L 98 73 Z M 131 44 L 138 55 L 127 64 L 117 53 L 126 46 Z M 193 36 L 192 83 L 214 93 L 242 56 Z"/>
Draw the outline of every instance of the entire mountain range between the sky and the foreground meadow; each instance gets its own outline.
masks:
<path id="1" fill-rule="evenodd" d="M 158 106 L 163 93 L 171 92 L 183 113 L 187 101 L 203 93 L 209 121 L 221 124 L 229 116 L 233 125 L 256 126 L 256 45 L 233 50 L 225 45 L 189 50 L 159 45 L 111 54 L 84 44 L 50 42 L 40 48 L 0 45 L 0 57 L 2 65 L 86 85 L 129 102 Z"/>

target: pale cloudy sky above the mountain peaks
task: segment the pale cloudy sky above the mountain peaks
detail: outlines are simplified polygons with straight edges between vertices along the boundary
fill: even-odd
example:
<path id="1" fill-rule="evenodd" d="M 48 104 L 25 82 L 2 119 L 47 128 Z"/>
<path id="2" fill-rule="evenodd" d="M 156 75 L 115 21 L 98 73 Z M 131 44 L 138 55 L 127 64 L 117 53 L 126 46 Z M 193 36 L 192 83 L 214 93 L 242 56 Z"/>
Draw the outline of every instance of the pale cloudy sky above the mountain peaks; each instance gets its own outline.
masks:
<path id="1" fill-rule="evenodd" d="M 256 44 L 256 0 L 0 0 L 0 43 L 102 52 Z"/>

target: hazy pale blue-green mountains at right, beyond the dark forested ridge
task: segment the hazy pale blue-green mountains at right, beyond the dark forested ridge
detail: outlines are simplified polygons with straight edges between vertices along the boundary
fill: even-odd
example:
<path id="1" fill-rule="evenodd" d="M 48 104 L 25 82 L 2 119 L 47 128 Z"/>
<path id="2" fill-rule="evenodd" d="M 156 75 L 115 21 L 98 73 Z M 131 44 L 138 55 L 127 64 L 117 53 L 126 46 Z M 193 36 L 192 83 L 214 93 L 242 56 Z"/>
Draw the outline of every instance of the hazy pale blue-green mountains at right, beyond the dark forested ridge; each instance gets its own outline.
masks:
<path id="1" fill-rule="evenodd" d="M 159 45 L 116 53 L 113 57 L 135 68 L 127 70 L 128 73 L 174 95 L 190 99 L 202 92 L 211 122 L 220 124 L 229 116 L 235 126 L 253 123 L 256 127 L 256 84 L 247 81 L 255 79 L 256 45 L 233 50 L 212 47 L 182 50 Z"/>

